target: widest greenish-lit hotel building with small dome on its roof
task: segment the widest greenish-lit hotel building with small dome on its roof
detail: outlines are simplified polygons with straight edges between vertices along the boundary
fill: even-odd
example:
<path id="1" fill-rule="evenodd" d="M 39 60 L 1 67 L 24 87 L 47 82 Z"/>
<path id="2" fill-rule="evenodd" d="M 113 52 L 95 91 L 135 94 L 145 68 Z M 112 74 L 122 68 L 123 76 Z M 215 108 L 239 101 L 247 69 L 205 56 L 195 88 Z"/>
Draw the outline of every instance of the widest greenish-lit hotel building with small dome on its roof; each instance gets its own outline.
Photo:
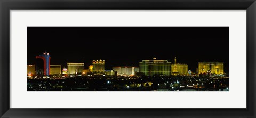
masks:
<path id="1" fill-rule="evenodd" d="M 168 60 L 142 60 L 139 63 L 139 72 L 143 72 L 146 76 L 153 75 L 171 75 L 171 62 Z"/>

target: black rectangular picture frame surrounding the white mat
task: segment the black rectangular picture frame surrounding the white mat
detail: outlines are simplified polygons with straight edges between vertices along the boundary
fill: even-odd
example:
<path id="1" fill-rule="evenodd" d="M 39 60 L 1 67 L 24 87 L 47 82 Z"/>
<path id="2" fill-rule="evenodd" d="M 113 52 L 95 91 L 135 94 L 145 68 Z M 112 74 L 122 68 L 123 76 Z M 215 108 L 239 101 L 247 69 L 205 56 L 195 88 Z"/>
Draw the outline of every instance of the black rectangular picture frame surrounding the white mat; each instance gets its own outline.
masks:
<path id="1" fill-rule="evenodd" d="M 255 117 L 255 0 L 1 0 L 0 1 L 1 117 Z M 246 10 L 246 109 L 10 109 L 10 10 L 68 9 L 186 9 Z M 239 101 L 237 101 L 239 102 Z M 204 103 L 201 103 L 204 104 Z"/>

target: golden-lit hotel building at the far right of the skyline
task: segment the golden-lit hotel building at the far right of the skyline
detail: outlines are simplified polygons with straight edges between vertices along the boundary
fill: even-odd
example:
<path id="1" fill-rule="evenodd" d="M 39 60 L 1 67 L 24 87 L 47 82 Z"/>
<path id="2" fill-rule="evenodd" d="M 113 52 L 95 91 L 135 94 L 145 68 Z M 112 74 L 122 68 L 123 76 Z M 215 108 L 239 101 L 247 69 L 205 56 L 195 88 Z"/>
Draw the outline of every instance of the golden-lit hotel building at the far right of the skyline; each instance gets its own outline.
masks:
<path id="1" fill-rule="evenodd" d="M 212 74 L 224 74 L 223 62 L 198 62 L 198 74 L 204 74 L 207 72 Z"/>

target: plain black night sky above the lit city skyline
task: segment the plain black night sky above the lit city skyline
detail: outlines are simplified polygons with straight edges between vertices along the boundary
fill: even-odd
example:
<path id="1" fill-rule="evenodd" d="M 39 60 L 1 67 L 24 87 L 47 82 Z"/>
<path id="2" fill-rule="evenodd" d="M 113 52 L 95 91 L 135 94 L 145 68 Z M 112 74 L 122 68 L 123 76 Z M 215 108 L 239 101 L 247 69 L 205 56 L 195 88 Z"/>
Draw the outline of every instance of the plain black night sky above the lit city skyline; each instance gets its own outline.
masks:
<path id="1" fill-rule="evenodd" d="M 224 62 L 228 72 L 228 27 L 28 27 L 28 64 L 47 51 L 51 65 L 105 60 L 113 66 L 139 66 L 142 60 L 168 60 L 188 64 L 195 71 L 198 62 Z"/>

